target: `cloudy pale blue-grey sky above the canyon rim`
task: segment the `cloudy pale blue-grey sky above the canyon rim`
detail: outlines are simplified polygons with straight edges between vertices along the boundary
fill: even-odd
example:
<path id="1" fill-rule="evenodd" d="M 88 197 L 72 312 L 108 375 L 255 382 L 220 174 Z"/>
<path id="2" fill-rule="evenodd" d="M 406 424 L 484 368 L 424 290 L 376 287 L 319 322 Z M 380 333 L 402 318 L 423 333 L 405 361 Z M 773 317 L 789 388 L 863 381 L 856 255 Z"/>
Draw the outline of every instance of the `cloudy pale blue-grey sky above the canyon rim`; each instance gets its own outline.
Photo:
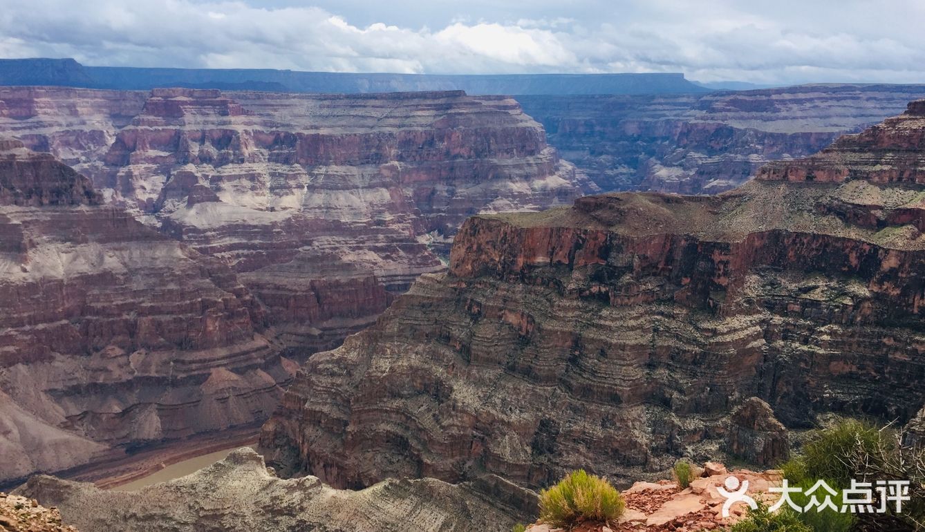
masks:
<path id="1" fill-rule="evenodd" d="M 925 0 L 4 0 L 0 57 L 440 74 L 925 82 Z"/>

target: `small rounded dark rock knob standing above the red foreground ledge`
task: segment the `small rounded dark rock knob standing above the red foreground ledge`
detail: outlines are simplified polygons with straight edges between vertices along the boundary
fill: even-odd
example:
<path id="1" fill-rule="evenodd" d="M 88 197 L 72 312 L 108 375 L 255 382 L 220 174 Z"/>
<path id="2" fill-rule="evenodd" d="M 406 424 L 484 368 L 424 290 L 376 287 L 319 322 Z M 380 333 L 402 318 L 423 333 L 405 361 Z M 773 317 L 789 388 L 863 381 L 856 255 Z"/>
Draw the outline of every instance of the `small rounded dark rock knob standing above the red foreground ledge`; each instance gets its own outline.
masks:
<path id="1" fill-rule="evenodd" d="M 767 402 L 751 397 L 730 419 L 724 450 L 749 464 L 776 465 L 790 456 L 787 429 Z"/>

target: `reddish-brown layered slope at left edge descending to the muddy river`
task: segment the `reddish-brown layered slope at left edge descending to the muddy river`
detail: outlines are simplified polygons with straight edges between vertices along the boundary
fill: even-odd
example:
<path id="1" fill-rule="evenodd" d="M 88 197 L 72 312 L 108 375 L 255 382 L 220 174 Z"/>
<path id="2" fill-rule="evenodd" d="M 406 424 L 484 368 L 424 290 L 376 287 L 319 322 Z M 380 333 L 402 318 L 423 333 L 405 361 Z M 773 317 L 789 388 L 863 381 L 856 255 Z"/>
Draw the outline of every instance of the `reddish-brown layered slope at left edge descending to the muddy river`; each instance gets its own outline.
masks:
<path id="1" fill-rule="evenodd" d="M 0 482 L 270 414 L 295 364 L 227 265 L 51 155 L 0 152 L 0 183 Z"/>

